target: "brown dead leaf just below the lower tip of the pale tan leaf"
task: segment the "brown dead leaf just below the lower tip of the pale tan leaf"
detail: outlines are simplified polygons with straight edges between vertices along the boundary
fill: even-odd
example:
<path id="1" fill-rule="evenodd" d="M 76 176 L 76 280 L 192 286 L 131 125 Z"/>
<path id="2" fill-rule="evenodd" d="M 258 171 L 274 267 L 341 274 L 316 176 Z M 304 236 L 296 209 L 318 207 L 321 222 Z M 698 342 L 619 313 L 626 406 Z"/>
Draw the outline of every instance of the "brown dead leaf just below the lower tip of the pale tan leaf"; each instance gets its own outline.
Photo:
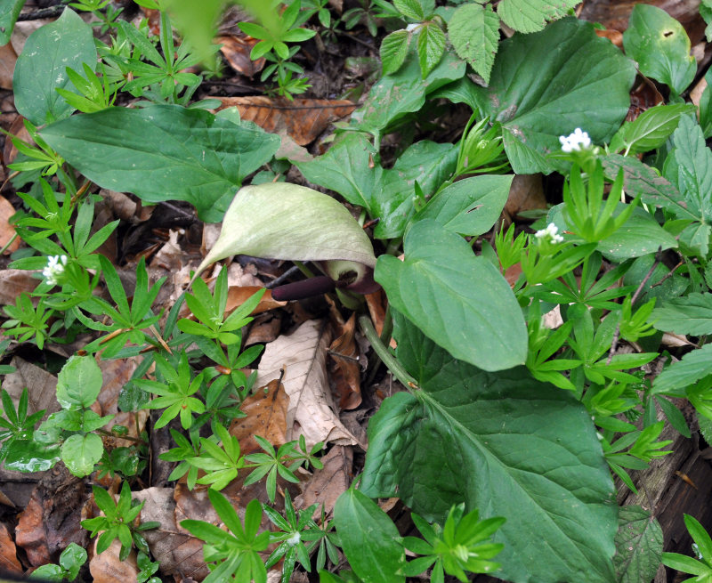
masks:
<path id="1" fill-rule="evenodd" d="M 319 504 L 313 518 L 321 515 L 321 505 L 331 514 L 342 492 L 349 489 L 353 478 L 353 448 L 335 445 L 321 458 L 324 467 L 314 470 L 312 477 L 303 484 L 303 493 L 295 498 L 295 507 L 307 508 Z"/>

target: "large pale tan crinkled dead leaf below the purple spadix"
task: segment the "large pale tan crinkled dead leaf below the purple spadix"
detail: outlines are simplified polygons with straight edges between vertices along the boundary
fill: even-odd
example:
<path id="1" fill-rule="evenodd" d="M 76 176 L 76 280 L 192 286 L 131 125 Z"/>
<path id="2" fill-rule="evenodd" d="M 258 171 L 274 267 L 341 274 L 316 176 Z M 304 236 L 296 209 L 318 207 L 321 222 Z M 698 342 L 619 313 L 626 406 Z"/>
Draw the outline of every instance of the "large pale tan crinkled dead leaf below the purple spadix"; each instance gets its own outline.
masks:
<path id="1" fill-rule="evenodd" d="M 331 399 L 326 368 L 329 336 L 328 326 L 320 320 L 308 320 L 291 335 L 279 336 L 263 353 L 257 386 L 279 378 L 285 367 L 282 385 L 289 396 L 287 441 L 303 433 L 309 448 L 319 441 L 365 448 L 339 421 Z"/>

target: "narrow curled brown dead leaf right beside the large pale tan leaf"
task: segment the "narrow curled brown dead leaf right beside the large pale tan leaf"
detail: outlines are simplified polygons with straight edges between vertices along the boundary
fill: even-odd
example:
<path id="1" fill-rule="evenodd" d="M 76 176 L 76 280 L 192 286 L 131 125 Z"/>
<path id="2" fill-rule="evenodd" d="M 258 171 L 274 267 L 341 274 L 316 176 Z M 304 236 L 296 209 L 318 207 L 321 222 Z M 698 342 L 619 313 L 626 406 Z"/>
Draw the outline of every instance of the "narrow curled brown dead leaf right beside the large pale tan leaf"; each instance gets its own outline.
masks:
<path id="1" fill-rule="evenodd" d="M 344 322 L 331 304 L 331 326 L 336 338 L 328 347 L 329 378 L 339 399 L 339 409 L 356 409 L 361 404 L 361 368 L 356 344 L 356 313 Z"/>

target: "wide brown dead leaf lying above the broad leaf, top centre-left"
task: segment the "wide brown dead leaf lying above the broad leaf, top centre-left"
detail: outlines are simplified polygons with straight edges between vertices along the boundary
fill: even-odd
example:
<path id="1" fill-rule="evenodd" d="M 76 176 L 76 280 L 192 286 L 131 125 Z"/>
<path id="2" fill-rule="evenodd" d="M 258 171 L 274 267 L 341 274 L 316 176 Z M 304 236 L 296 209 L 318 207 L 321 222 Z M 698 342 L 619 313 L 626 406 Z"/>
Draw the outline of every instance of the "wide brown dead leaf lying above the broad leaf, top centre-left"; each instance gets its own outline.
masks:
<path id="1" fill-rule="evenodd" d="M 285 131 L 297 144 L 313 142 L 332 122 L 351 115 L 357 104 L 348 100 L 298 98 L 295 101 L 251 97 L 215 97 L 223 101 L 218 108 L 237 107 L 242 119 L 255 122 L 266 132 Z"/>

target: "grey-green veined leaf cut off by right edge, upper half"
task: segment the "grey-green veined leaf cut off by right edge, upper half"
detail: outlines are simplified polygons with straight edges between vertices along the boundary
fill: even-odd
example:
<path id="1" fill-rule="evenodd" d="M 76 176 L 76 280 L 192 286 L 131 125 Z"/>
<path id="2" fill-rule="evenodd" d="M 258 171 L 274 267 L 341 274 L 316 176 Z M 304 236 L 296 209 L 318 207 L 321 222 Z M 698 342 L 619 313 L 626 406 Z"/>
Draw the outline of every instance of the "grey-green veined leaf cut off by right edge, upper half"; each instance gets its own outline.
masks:
<path id="1" fill-rule="evenodd" d="M 712 151 L 700 126 L 686 116 L 680 118 L 673 143 L 663 174 L 683 195 L 689 213 L 700 223 L 708 223 L 712 220 Z"/>

